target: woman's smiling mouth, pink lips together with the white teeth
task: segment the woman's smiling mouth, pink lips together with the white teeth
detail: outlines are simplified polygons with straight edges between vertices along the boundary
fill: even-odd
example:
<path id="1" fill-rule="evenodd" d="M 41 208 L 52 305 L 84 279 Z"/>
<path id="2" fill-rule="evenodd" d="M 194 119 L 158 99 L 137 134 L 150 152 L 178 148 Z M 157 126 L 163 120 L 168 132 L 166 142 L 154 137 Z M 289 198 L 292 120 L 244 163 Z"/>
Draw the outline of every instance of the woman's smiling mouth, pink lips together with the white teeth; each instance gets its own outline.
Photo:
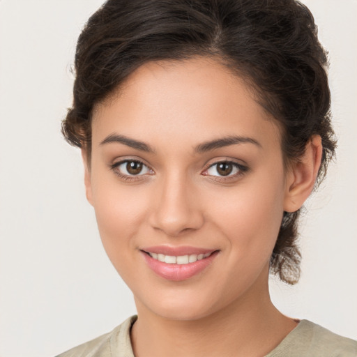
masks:
<path id="1" fill-rule="evenodd" d="M 141 252 L 154 273 L 173 281 L 187 280 L 201 273 L 218 255 L 218 250 L 186 246 L 155 246 L 143 248 Z"/>

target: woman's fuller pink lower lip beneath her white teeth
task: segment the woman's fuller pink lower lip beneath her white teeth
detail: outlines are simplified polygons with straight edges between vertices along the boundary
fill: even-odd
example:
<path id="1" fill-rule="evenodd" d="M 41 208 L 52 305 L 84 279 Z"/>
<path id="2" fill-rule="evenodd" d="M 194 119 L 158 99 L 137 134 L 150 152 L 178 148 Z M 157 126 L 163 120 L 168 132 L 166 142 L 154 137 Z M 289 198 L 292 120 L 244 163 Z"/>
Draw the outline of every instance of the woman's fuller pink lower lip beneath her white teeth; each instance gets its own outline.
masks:
<path id="1" fill-rule="evenodd" d="M 157 259 L 153 259 L 153 257 L 146 252 L 142 252 L 142 254 L 152 271 L 158 274 L 161 278 L 177 282 L 190 279 L 192 276 L 204 271 L 204 269 L 207 268 L 218 255 L 218 251 L 213 252 L 209 257 L 188 264 L 167 264 L 158 261 Z"/>

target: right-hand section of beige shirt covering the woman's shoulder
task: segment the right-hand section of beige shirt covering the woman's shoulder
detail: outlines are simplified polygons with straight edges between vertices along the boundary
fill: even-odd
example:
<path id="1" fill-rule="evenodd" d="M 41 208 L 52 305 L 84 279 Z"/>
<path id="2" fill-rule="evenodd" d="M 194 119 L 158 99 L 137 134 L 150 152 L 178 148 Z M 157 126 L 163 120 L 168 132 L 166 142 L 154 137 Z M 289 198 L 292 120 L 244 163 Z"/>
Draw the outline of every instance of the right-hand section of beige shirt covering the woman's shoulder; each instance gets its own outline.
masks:
<path id="1" fill-rule="evenodd" d="M 357 357 L 357 341 L 302 320 L 266 357 Z"/>

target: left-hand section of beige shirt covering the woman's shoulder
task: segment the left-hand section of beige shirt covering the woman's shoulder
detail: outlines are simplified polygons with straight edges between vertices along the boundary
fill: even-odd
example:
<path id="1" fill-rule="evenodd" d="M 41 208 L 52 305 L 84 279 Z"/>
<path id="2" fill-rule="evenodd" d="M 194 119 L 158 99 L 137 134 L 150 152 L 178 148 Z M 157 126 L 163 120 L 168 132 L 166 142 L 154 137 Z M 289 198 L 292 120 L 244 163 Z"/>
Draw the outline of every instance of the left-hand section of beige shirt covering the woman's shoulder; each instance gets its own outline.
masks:
<path id="1" fill-rule="evenodd" d="M 56 357 L 134 357 L 130 343 L 130 328 L 136 319 L 136 316 L 132 316 L 113 331 Z"/>

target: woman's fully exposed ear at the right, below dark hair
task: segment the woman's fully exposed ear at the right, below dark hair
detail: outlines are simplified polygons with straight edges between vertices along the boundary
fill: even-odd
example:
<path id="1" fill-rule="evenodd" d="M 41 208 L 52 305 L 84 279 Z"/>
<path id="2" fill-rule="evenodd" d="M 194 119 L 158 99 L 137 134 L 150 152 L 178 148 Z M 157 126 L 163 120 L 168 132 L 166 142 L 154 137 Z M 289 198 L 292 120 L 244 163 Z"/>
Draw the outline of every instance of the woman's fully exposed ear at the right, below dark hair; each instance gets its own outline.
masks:
<path id="1" fill-rule="evenodd" d="M 284 211 L 295 212 L 303 206 L 314 189 L 322 158 L 321 137 L 313 135 L 303 157 L 289 168 L 284 196 Z"/>

